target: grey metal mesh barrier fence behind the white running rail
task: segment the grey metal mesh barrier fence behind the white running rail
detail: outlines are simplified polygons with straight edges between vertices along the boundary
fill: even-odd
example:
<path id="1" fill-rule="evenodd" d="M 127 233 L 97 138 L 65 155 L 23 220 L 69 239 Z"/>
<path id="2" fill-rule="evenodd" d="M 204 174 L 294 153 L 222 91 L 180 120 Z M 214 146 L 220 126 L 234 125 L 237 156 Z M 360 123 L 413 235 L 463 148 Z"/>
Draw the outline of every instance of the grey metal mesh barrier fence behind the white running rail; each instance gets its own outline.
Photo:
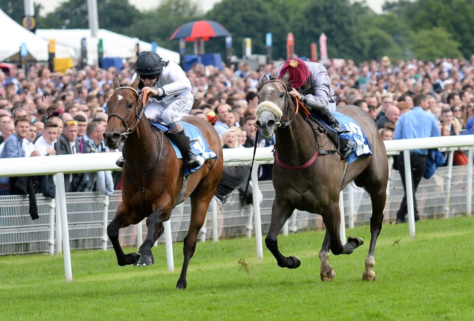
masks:
<path id="1" fill-rule="evenodd" d="M 448 168 L 438 168 L 435 176 L 422 179 L 417 191 L 417 204 L 422 219 L 460 216 L 466 214 L 466 166 L 455 166 L 452 170 L 450 202 L 445 204 L 447 196 Z M 267 232 L 270 226 L 272 203 L 275 191 L 271 181 L 259 182 L 263 195 L 260 206 L 262 231 Z M 344 190 L 346 222 L 353 219 L 354 224 L 367 224 L 371 215 L 370 198 L 367 193 L 350 184 Z M 395 221 L 396 212 L 403 197 L 403 187 L 398 172 L 393 171 L 388 188 L 385 220 Z M 352 195 L 351 195 L 352 193 Z M 67 213 L 69 221 L 71 249 L 101 249 L 103 247 L 103 208 L 105 196 L 96 192 L 68 193 Z M 50 201 L 37 195 L 40 218 L 32 221 L 28 214 L 27 196 L 0 197 L 0 255 L 48 252 L 50 245 Z M 109 197 L 108 222 L 114 217 L 121 201 L 120 191 Z M 472 200 L 470 200 L 472 202 Z M 351 217 L 353 204 L 353 217 Z M 242 237 L 254 235 L 251 206 L 242 206 L 238 195 L 229 198 L 228 203 L 219 205 L 217 224 L 218 237 Z M 173 210 L 171 229 L 173 241 L 181 241 L 186 236 L 191 213 L 187 200 Z M 209 209 L 201 239 L 212 239 L 212 215 Z M 350 227 L 350 223 L 348 223 Z M 142 222 L 143 238 L 147 228 Z M 322 228 L 322 219 L 317 214 L 295 211 L 288 220 L 288 229 L 292 232 Z M 120 242 L 123 246 L 136 246 L 137 226 L 130 226 L 120 231 Z M 161 236 L 158 242 L 164 242 Z M 111 247 L 110 241 L 108 247 Z"/>

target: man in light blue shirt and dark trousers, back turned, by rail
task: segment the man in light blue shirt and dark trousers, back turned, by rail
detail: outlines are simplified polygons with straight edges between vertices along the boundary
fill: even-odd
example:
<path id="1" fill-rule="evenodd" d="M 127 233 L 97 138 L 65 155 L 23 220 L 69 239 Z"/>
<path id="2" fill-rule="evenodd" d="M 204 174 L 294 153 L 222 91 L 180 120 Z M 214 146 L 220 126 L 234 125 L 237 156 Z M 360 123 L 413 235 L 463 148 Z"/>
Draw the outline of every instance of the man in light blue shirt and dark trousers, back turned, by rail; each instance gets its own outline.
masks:
<path id="1" fill-rule="evenodd" d="M 439 126 L 435 115 L 426 111 L 428 104 L 425 95 L 417 95 L 413 98 L 415 107 L 402 114 L 398 119 L 395 127 L 394 140 L 403 140 L 410 138 L 425 138 L 441 136 Z M 420 183 L 426 167 L 426 157 L 428 149 L 410 150 L 411 177 L 413 188 L 413 208 L 415 211 L 415 220 L 420 220 L 418 209 L 416 208 L 416 189 Z M 406 203 L 406 186 L 405 186 L 405 168 L 403 162 L 403 152 L 397 158 L 398 171 L 400 172 L 401 181 L 403 183 L 403 191 L 405 195 L 401 201 L 400 209 L 396 213 L 396 222 L 405 222 L 405 216 L 408 212 Z"/>

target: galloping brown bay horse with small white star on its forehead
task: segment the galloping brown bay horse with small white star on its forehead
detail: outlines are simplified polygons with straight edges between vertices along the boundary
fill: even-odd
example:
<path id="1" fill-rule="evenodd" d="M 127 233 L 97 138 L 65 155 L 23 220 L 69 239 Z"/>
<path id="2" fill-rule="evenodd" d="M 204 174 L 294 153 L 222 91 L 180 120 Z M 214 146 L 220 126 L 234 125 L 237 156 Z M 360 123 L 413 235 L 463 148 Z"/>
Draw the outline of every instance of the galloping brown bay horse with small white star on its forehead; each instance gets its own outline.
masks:
<path id="1" fill-rule="evenodd" d="M 114 79 L 114 93 L 107 102 L 109 118 L 104 139 L 110 148 L 124 141 L 125 163 L 122 171 L 122 202 L 114 219 L 107 226 L 107 234 L 117 255 L 118 265 L 148 266 L 154 263 L 152 247 L 163 233 L 163 222 L 170 219 L 171 210 L 191 198 L 191 219 L 184 239 L 184 261 L 176 287 L 186 288 L 186 273 L 196 250 L 197 234 L 206 218 L 207 208 L 214 194 L 221 200 L 240 183 L 232 173 L 223 171 L 223 154 L 219 135 L 206 121 L 198 117 L 185 117 L 183 121 L 195 125 L 215 152 L 210 159 L 187 180 L 184 180 L 184 162 L 176 157 L 169 140 L 157 133 L 144 115 L 144 102 L 139 99 L 138 83 L 119 84 Z M 148 217 L 147 236 L 139 253 L 125 254 L 118 241 L 120 228 L 140 223 Z"/>

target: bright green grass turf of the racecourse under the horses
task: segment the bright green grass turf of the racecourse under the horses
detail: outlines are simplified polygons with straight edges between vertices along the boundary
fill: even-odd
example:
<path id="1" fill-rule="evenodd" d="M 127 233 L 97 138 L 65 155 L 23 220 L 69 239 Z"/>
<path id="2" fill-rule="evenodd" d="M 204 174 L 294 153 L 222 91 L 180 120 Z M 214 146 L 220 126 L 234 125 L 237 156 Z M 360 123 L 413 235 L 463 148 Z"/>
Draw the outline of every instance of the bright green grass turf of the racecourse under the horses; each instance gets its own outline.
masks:
<path id="1" fill-rule="evenodd" d="M 265 246 L 258 261 L 255 238 L 198 242 L 186 290 L 175 288 L 182 243 L 172 273 L 162 245 L 151 267 L 119 267 L 113 250 L 72 251 L 72 284 L 62 257 L 3 256 L 0 320 L 474 320 L 473 231 L 474 218 L 417 222 L 414 239 L 407 224 L 385 224 L 375 282 L 361 281 L 368 226 L 347 230 L 361 248 L 329 257 L 331 283 L 319 279 L 323 231 L 278 238 L 284 255 L 301 259 L 295 270 L 277 267 Z"/>

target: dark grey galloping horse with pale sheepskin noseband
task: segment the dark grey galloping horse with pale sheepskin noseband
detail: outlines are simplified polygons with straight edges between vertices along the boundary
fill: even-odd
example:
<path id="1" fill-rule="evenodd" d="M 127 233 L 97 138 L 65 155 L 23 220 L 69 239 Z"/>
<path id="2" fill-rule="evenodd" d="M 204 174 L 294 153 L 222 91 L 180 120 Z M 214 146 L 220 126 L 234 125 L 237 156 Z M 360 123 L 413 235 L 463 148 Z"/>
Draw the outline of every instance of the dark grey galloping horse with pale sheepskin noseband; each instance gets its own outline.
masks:
<path id="1" fill-rule="evenodd" d="M 258 93 L 260 104 L 257 109 L 257 127 L 266 138 L 275 133 L 277 151 L 277 161 L 273 167 L 275 200 L 265 244 L 275 256 L 278 266 L 290 269 L 299 267 L 301 262 L 297 257 L 286 257 L 279 252 L 278 232 L 295 209 L 320 214 L 326 227 L 318 255 L 321 261 L 320 277 L 324 282 L 332 281 L 335 272 L 328 263 L 329 250 L 335 255 L 350 254 L 363 244 L 361 238 L 349 237 L 343 246 L 339 238 L 339 193 L 354 180 L 357 186 L 369 193 L 372 202 L 370 245 L 362 279 L 376 280 L 373 271 L 374 251 L 382 229 L 388 181 L 387 153 L 377 126 L 360 107 L 337 108 L 337 111 L 357 122 L 372 148 L 372 155 L 357 158 L 347 166 L 345 172 L 346 164 L 339 154 L 319 155 L 322 146 L 333 147 L 334 150 L 337 148 L 325 134 L 313 127 L 311 119 L 297 111 L 296 106 L 300 102 L 289 98 L 288 92 L 292 86 L 288 78 L 288 72 L 281 79 L 269 80 L 264 76 Z M 263 110 L 263 105 L 273 106 L 274 111 L 271 111 L 273 107 Z"/>

